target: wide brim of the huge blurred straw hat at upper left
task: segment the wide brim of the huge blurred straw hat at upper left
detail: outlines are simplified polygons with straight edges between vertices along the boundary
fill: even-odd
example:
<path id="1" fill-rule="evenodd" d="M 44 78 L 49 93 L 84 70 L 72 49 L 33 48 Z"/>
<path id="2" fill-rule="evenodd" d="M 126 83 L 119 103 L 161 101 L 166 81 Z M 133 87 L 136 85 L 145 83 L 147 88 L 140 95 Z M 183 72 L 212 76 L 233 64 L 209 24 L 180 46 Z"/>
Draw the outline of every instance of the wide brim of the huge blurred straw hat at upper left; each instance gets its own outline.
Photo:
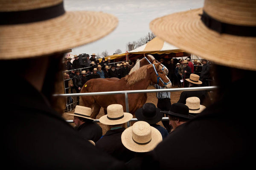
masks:
<path id="1" fill-rule="evenodd" d="M 67 51 L 112 32 L 118 19 L 95 11 L 66 11 L 41 22 L 0 26 L 1 59 L 21 59 Z"/>

